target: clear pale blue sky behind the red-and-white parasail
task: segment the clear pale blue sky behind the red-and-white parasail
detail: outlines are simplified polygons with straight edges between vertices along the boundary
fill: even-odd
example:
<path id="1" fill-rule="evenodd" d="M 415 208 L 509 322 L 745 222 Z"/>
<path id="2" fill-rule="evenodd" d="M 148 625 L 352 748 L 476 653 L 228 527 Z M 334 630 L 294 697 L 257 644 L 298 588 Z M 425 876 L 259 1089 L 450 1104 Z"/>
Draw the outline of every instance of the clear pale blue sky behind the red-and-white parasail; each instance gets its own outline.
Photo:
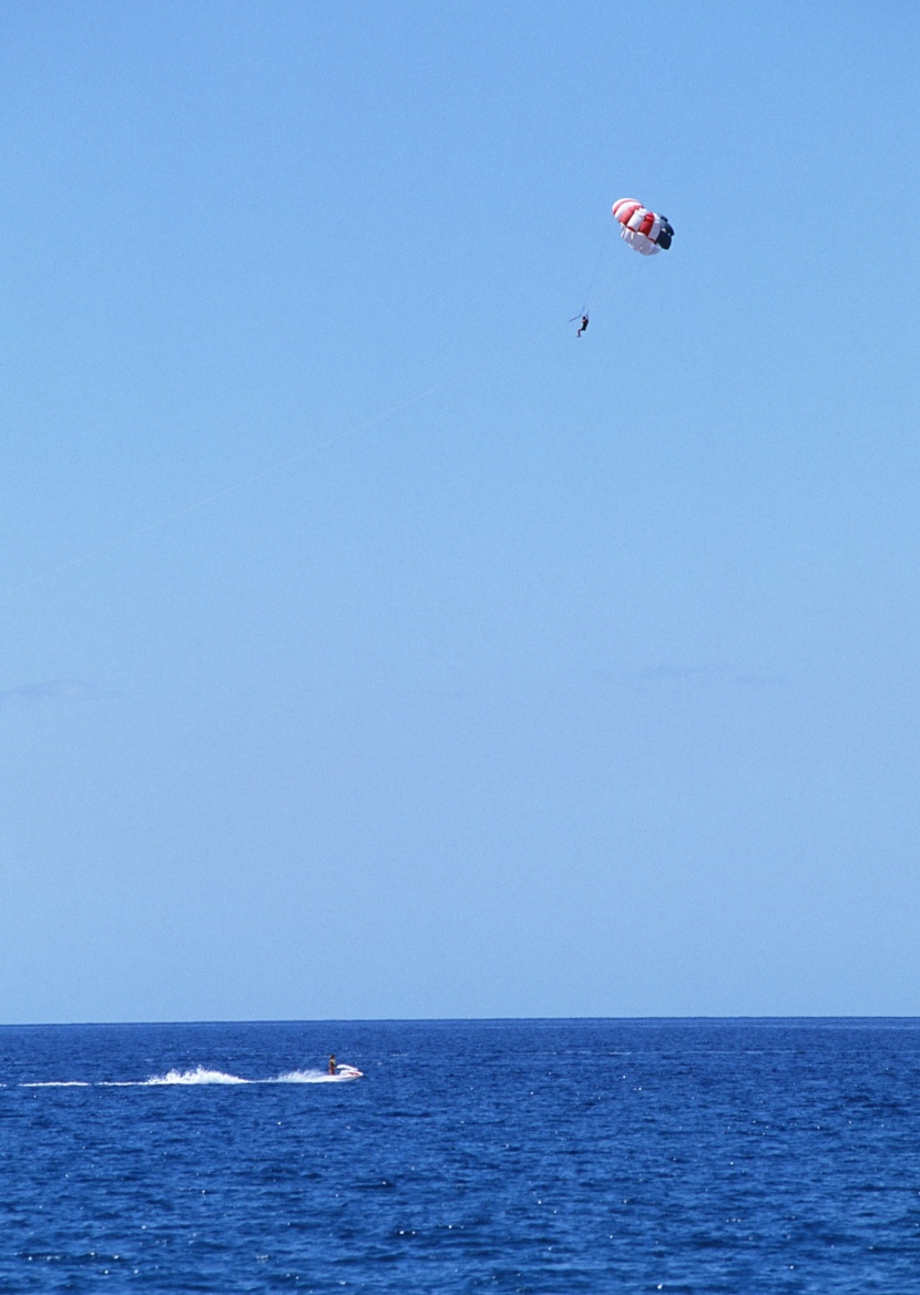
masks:
<path id="1" fill-rule="evenodd" d="M 919 35 L 6 0 L 0 1019 L 920 1013 Z"/>

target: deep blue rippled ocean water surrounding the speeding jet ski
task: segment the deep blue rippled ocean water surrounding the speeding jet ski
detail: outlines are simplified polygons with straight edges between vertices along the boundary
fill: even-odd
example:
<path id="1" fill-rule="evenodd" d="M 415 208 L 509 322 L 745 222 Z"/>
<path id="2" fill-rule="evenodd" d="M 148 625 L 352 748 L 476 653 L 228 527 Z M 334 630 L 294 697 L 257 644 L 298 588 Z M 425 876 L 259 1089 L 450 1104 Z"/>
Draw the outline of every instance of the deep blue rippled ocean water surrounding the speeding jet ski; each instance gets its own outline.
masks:
<path id="1" fill-rule="evenodd" d="M 4 1027 L 0 1081 L 4 1295 L 920 1292 L 920 1020 Z"/>

